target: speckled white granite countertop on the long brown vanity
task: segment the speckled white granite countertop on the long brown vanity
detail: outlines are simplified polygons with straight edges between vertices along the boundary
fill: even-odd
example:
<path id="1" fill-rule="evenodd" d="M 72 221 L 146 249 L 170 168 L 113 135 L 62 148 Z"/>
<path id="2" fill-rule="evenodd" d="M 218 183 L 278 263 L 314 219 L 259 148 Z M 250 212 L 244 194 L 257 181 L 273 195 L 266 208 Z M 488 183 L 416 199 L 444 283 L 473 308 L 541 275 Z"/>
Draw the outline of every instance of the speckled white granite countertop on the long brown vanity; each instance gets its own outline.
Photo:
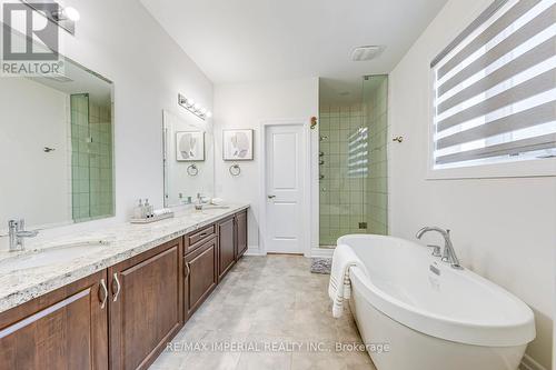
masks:
<path id="1" fill-rule="evenodd" d="M 97 271 L 140 254 L 151 248 L 210 224 L 218 219 L 249 208 L 249 204 L 228 204 L 226 209 L 207 207 L 202 211 L 188 209 L 175 218 L 148 224 L 120 223 L 102 230 L 80 232 L 41 240 L 27 239 L 26 251 L 0 252 L 0 312 L 24 303 L 33 298 L 69 284 Z M 24 258 L 48 248 L 72 243 L 102 241 L 95 246 L 98 251 L 77 257 L 66 262 L 13 270 L 6 266 L 12 258 Z"/>

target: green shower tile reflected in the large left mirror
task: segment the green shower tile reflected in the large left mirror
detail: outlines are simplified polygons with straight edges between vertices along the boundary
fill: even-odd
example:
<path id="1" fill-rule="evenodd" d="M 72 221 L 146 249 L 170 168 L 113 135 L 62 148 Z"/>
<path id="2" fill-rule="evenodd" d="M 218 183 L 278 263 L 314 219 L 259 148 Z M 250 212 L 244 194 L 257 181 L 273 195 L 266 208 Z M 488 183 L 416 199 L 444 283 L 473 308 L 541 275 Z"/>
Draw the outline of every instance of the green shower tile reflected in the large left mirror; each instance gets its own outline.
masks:
<path id="1" fill-rule="evenodd" d="M 71 174 L 72 218 L 87 221 L 113 214 L 111 112 L 72 94 Z"/>

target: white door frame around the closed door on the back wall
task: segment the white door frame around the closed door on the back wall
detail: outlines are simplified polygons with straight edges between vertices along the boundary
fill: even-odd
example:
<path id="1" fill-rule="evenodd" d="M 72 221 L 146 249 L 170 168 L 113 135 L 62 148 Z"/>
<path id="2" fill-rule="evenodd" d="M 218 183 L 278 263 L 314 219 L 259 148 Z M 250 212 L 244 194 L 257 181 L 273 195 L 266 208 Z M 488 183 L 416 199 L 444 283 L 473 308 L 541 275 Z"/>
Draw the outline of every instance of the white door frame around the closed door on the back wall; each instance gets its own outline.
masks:
<path id="1" fill-rule="evenodd" d="M 308 119 L 277 119 L 277 120 L 264 120 L 260 121 L 260 162 L 259 162 L 259 204 L 260 204 L 260 219 L 259 219 L 259 248 L 261 254 L 267 254 L 267 131 L 270 127 L 279 126 L 298 126 L 301 128 L 301 148 L 305 156 L 305 163 L 301 167 L 301 188 L 304 191 L 304 199 L 301 204 L 301 222 L 302 230 L 307 230 L 307 233 L 301 234 L 301 250 L 305 257 L 310 257 L 311 252 L 311 152 L 310 152 L 310 128 Z"/>

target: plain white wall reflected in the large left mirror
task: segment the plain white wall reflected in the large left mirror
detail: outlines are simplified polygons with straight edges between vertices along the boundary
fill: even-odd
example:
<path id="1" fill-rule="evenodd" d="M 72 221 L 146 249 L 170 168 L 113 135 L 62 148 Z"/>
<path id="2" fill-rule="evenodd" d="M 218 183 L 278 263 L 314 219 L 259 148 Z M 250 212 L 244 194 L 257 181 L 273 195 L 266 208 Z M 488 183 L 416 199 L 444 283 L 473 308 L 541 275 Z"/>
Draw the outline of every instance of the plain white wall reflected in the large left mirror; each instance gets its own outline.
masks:
<path id="1" fill-rule="evenodd" d="M 0 230 L 20 217 L 34 226 L 68 223 L 69 96 L 30 79 L 0 82 Z M 46 153 L 44 147 L 56 150 Z"/>

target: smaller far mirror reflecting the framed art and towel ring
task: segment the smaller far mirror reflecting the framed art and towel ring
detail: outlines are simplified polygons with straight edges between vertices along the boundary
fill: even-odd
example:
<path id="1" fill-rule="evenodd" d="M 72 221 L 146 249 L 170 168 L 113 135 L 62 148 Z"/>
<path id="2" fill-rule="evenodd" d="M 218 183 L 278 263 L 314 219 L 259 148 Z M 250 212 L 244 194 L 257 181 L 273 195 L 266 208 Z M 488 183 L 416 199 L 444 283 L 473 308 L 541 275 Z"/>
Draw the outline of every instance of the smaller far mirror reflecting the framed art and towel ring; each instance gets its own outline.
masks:
<path id="1" fill-rule="evenodd" d="M 186 113 L 162 112 L 165 207 L 195 202 L 215 192 L 215 138 L 207 121 Z"/>

